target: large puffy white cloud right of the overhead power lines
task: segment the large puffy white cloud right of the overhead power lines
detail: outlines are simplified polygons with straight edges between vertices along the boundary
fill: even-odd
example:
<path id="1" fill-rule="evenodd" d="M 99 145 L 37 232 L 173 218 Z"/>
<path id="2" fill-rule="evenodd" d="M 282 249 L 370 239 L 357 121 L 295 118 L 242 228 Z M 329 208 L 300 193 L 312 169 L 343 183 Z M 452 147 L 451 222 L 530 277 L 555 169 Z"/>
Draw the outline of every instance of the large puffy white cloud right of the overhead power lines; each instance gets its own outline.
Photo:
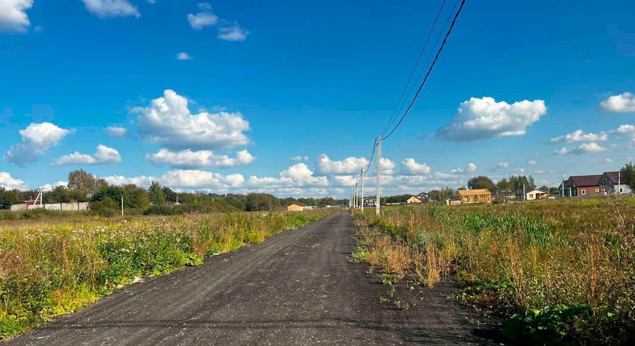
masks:
<path id="1" fill-rule="evenodd" d="M 491 97 L 470 98 L 461 103 L 450 123 L 436 136 L 445 140 L 471 142 L 488 138 L 525 135 L 526 128 L 547 113 L 543 100 L 496 102 Z"/>

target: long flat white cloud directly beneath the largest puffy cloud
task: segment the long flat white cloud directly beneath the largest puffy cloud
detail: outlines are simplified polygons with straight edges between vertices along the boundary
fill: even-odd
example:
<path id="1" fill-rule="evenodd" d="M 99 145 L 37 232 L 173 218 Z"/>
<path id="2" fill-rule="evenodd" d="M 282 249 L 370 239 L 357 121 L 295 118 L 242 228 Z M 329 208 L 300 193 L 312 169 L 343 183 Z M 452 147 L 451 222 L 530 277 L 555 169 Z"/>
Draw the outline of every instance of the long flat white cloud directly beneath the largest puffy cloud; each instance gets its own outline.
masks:
<path id="1" fill-rule="evenodd" d="M 161 149 L 155 154 L 147 154 L 145 158 L 154 164 L 169 164 L 175 168 L 234 167 L 241 164 L 250 164 L 256 159 L 246 149 L 236 152 L 236 157 L 216 156 L 211 150 L 192 151 L 187 149 L 180 152 L 171 152 L 167 149 Z"/>

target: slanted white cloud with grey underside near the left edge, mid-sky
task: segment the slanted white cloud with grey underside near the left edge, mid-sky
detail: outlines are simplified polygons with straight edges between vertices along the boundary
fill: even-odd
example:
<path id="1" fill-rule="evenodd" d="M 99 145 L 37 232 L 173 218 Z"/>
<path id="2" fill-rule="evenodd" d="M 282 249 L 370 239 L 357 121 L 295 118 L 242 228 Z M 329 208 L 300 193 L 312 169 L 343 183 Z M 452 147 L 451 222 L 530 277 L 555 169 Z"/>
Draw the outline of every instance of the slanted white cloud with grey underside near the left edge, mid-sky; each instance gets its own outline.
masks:
<path id="1" fill-rule="evenodd" d="M 37 161 L 38 154 L 44 154 L 72 132 L 51 123 L 31 123 L 24 130 L 20 130 L 22 140 L 11 145 L 4 158 L 10 163 L 25 167 Z"/>

